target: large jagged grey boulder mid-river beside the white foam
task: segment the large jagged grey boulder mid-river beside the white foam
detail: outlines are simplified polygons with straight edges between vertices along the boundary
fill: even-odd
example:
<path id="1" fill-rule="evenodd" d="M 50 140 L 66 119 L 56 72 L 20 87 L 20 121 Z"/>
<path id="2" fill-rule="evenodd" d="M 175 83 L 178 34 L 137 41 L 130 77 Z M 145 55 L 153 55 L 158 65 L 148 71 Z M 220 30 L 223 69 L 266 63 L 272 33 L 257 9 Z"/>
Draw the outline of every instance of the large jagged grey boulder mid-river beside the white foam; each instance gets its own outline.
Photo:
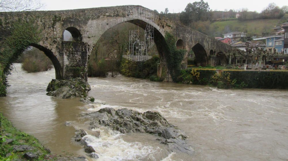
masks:
<path id="1" fill-rule="evenodd" d="M 140 132 L 159 136 L 163 144 L 167 144 L 172 150 L 179 150 L 192 154 L 192 149 L 187 146 L 185 133 L 176 126 L 168 123 L 158 112 L 147 111 L 140 113 L 126 108 L 115 110 L 114 108 L 102 108 L 97 112 L 85 114 L 91 119 L 91 128 L 107 126 L 121 133 Z"/>

